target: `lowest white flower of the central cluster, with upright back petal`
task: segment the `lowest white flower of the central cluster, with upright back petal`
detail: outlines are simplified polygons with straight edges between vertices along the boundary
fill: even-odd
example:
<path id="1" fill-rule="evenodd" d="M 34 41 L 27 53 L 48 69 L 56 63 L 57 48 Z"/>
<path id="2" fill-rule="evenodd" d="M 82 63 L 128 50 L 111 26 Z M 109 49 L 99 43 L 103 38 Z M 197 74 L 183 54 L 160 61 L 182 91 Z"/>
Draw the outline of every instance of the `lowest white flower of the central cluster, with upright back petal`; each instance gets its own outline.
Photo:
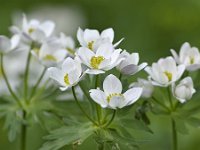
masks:
<path id="1" fill-rule="evenodd" d="M 117 109 L 136 102 L 141 94 L 142 88 L 131 88 L 122 94 L 122 84 L 114 75 L 108 75 L 103 82 L 103 90 L 91 89 L 91 98 L 103 108 Z"/>

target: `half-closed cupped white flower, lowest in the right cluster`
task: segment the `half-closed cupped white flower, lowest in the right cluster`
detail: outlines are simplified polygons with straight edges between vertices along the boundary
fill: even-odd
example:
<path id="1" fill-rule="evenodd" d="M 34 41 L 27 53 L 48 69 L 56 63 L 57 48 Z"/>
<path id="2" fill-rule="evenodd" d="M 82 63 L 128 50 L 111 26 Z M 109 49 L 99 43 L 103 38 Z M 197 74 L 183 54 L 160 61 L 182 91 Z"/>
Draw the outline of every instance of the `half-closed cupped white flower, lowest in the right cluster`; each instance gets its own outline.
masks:
<path id="1" fill-rule="evenodd" d="M 181 103 L 192 98 L 192 95 L 196 92 L 193 87 L 193 81 L 191 77 L 186 77 L 180 81 L 178 85 L 172 85 L 172 92 Z"/>

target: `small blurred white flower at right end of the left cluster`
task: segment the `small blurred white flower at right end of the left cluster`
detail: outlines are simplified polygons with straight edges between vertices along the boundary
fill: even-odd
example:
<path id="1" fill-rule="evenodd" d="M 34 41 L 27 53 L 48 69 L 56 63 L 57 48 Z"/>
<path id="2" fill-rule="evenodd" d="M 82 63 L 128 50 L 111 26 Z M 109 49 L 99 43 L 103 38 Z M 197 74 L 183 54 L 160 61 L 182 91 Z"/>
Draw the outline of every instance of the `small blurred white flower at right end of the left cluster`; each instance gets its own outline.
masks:
<path id="1" fill-rule="evenodd" d="M 68 55 L 74 57 L 76 48 L 75 48 L 75 42 L 72 39 L 72 37 L 66 36 L 64 33 L 61 33 L 59 41 L 61 47 L 67 51 Z"/>

